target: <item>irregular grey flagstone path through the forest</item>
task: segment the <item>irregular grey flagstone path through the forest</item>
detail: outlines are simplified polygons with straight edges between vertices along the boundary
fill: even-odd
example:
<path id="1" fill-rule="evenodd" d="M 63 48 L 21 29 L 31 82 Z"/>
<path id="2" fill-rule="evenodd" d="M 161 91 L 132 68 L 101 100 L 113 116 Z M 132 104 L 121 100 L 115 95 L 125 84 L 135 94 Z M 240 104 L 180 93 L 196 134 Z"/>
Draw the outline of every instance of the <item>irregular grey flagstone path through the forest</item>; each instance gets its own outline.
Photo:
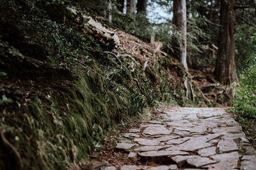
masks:
<path id="1" fill-rule="evenodd" d="M 254 148 L 223 108 L 166 109 L 117 140 L 115 153 L 129 164 L 94 169 L 256 169 Z"/>

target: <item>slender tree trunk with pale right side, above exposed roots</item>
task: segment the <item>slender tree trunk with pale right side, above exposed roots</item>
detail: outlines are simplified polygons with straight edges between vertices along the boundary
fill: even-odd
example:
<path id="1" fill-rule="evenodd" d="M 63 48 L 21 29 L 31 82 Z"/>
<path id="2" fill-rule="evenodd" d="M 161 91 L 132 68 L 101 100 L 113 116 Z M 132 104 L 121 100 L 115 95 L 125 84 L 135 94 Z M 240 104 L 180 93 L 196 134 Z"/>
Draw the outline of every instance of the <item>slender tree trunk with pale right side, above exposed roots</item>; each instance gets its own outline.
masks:
<path id="1" fill-rule="evenodd" d="M 173 0 L 173 24 L 182 32 L 182 41 L 179 43 L 181 53 L 179 53 L 180 62 L 188 70 L 187 64 L 187 17 L 186 0 Z"/>

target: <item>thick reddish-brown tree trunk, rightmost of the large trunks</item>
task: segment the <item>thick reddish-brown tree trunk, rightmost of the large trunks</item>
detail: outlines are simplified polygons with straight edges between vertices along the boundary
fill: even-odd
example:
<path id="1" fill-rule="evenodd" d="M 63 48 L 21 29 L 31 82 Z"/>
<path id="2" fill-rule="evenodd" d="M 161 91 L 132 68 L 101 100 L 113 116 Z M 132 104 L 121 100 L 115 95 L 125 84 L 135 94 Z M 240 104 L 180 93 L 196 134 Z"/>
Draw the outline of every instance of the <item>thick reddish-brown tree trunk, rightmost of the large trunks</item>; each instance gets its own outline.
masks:
<path id="1" fill-rule="evenodd" d="M 237 82 L 235 65 L 235 0 L 220 1 L 220 39 L 215 76 L 223 85 Z"/>

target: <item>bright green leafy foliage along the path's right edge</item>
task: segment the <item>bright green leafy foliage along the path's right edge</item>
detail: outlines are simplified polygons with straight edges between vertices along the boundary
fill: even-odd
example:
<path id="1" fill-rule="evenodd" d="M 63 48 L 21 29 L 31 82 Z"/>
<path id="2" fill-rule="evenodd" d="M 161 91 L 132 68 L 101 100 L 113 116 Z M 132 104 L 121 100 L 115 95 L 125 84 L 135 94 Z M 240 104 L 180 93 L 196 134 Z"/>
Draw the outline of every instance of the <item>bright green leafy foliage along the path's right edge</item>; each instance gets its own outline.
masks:
<path id="1" fill-rule="evenodd" d="M 255 34 L 252 36 L 252 41 Z M 232 101 L 234 109 L 230 110 L 236 113 L 236 119 L 244 128 L 246 134 L 254 136 L 252 142 L 255 142 L 255 123 L 256 123 L 256 55 L 246 60 L 247 67 L 240 74 L 240 82 L 236 88 L 236 98 Z"/>

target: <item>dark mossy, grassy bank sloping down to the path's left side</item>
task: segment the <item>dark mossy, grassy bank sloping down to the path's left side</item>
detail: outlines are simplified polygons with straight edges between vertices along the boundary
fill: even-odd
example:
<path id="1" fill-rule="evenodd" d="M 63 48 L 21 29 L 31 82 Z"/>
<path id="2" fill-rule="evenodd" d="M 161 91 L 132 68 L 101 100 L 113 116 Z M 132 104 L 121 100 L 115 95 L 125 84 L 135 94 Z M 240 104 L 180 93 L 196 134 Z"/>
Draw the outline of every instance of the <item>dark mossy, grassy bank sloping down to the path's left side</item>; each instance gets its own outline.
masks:
<path id="1" fill-rule="evenodd" d="M 0 126 L 24 169 L 77 167 L 113 125 L 139 117 L 157 101 L 184 103 L 183 88 L 170 86 L 164 70 L 173 69 L 168 59 L 131 71 L 128 59 L 120 64 L 104 53 L 113 46 L 87 34 L 86 21 L 68 6 L 54 0 L 0 3 Z M 1 155 L 6 147 L 1 143 Z M 5 154 L 1 169 L 13 169 L 13 162 Z"/>

